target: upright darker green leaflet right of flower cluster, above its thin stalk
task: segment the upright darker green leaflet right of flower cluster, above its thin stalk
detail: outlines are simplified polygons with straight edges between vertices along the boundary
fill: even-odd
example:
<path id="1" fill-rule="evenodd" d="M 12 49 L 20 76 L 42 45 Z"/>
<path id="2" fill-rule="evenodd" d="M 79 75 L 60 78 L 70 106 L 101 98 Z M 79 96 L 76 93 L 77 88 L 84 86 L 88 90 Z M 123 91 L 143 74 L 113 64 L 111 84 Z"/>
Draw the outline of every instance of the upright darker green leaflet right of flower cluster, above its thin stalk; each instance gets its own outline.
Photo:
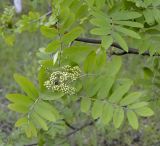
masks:
<path id="1" fill-rule="evenodd" d="M 96 53 L 95 51 L 92 51 L 84 61 L 85 73 L 95 72 L 95 65 L 96 65 Z"/>

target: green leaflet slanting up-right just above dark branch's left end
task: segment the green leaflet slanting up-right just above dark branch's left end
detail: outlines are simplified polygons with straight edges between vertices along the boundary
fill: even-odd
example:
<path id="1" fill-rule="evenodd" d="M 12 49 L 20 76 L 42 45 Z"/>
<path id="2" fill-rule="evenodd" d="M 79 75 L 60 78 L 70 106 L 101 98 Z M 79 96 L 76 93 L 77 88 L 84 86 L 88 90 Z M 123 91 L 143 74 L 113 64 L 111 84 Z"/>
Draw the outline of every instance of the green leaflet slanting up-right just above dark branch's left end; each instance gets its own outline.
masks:
<path id="1" fill-rule="evenodd" d="M 66 33 L 62 37 L 62 42 L 65 44 L 71 43 L 74 41 L 81 33 L 83 32 L 83 29 L 81 27 L 76 27 L 70 32 Z"/>

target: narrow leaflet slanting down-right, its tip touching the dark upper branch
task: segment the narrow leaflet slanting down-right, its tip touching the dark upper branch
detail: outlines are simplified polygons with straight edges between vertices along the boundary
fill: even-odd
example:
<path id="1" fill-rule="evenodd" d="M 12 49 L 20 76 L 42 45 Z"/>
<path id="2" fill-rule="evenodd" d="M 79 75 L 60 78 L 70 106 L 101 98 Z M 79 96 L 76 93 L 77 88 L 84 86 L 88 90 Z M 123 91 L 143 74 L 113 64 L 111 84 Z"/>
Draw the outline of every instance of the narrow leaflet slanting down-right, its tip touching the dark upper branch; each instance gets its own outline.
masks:
<path id="1" fill-rule="evenodd" d="M 126 41 L 121 37 L 121 35 L 119 35 L 118 33 L 114 32 L 113 33 L 113 37 L 115 39 L 115 41 L 126 51 L 128 52 L 128 46 Z"/>

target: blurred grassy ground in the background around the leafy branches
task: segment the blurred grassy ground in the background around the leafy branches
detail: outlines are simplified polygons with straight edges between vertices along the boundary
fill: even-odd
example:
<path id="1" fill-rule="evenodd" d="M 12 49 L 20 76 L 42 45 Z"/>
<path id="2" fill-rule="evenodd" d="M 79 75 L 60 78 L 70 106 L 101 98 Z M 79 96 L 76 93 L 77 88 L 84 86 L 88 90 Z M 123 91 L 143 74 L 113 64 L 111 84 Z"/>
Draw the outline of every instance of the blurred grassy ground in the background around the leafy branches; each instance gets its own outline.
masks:
<path id="1" fill-rule="evenodd" d="M 23 1 L 23 14 L 29 11 L 39 11 L 44 14 L 49 9 L 48 0 L 28 0 Z M 0 1 L 0 12 L 4 8 L 12 5 L 12 0 Z M 16 17 L 20 17 L 17 14 Z M 7 109 L 7 101 L 4 98 L 8 92 L 17 91 L 17 85 L 13 80 L 13 73 L 21 73 L 36 83 L 38 70 L 38 58 L 36 52 L 38 48 L 43 47 L 45 40 L 39 32 L 22 33 L 16 36 L 13 46 L 4 43 L 0 38 L 0 146 L 24 146 L 34 143 L 36 139 L 27 139 L 21 131 L 14 128 L 16 114 Z M 122 129 L 116 130 L 112 126 L 105 129 L 98 123 L 78 132 L 68 140 L 78 143 L 78 146 L 159 146 L 160 145 L 160 81 L 155 81 L 155 77 L 160 75 L 158 57 L 144 57 L 138 55 L 123 56 L 123 68 L 121 75 L 132 78 L 136 84 L 143 85 L 136 88 L 146 90 L 153 100 L 153 109 L 155 116 L 141 120 L 140 129 L 134 131 L 125 125 Z M 157 66 L 156 66 L 157 65 Z M 148 90 L 149 89 L 149 90 Z M 54 129 L 53 129 L 54 130 Z M 101 131 L 101 132 L 100 132 Z M 103 131 L 103 132 L 102 132 Z M 84 137 L 88 135 L 88 137 Z"/>

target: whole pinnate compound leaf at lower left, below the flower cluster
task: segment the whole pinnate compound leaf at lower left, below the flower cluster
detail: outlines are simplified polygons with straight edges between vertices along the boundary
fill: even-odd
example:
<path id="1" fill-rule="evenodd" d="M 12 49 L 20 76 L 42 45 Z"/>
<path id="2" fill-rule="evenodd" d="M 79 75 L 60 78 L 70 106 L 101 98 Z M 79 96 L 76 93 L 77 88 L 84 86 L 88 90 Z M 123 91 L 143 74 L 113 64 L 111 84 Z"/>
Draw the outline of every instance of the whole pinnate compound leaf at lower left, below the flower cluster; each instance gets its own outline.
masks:
<path id="1" fill-rule="evenodd" d="M 56 121 L 59 118 L 58 111 L 39 98 L 38 90 L 27 78 L 18 74 L 15 74 L 14 77 L 28 95 L 8 94 L 6 96 L 8 100 L 13 102 L 8 105 L 11 110 L 24 113 L 15 125 L 21 127 L 28 137 L 37 136 L 37 129 L 48 129 L 45 120 Z"/>

